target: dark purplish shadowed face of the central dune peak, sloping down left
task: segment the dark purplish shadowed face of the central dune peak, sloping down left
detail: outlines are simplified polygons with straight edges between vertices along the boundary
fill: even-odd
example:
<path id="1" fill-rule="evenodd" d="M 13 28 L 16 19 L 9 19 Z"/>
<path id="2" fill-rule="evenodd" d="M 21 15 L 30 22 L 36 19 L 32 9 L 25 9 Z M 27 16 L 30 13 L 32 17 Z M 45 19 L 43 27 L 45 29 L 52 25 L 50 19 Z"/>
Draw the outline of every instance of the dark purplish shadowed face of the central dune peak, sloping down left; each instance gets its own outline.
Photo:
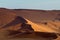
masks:
<path id="1" fill-rule="evenodd" d="M 27 21 L 23 17 L 16 16 L 16 18 L 13 21 L 11 21 L 10 23 L 6 24 L 2 28 L 7 28 L 9 26 L 14 26 L 14 25 L 19 24 L 19 23 L 27 23 Z"/>

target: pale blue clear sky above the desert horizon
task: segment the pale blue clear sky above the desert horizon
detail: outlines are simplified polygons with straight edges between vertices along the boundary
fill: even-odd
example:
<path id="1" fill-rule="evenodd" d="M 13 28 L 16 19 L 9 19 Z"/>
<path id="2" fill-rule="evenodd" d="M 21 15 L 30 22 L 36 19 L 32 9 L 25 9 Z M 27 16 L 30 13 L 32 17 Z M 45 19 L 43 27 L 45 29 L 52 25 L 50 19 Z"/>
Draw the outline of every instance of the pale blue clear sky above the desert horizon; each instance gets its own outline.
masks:
<path id="1" fill-rule="evenodd" d="M 0 0 L 0 8 L 60 10 L 60 0 Z"/>

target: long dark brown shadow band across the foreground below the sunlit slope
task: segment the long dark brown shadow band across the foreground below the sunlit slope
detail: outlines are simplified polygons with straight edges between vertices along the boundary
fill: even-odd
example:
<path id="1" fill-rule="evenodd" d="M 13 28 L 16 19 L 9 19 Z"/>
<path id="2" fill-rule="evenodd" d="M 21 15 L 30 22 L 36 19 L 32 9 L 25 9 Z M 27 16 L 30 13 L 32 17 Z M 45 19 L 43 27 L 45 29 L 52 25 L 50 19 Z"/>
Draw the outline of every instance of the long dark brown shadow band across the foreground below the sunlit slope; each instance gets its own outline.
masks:
<path id="1" fill-rule="evenodd" d="M 58 36 L 56 33 L 48 33 L 48 32 L 19 32 L 19 31 L 9 31 L 11 34 L 8 36 L 12 36 L 11 38 L 47 38 L 47 39 L 56 39 Z"/>

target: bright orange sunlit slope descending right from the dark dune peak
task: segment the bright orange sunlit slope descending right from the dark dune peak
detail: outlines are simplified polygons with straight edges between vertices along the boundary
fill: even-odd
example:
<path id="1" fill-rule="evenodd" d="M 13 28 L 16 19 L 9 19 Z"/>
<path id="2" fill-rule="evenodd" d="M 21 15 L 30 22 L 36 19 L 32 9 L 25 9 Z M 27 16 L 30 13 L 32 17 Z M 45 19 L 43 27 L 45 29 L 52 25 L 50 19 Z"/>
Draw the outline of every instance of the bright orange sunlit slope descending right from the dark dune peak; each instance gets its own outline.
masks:
<path id="1" fill-rule="evenodd" d="M 33 23 L 31 21 L 29 21 L 28 19 L 26 19 L 28 21 L 28 24 L 32 25 L 32 28 L 34 29 L 34 31 L 38 31 L 38 32 L 56 32 L 55 30 L 51 29 L 50 27 L 46 27 L 44 25 L 39 25 L 36 23 Z"/>

